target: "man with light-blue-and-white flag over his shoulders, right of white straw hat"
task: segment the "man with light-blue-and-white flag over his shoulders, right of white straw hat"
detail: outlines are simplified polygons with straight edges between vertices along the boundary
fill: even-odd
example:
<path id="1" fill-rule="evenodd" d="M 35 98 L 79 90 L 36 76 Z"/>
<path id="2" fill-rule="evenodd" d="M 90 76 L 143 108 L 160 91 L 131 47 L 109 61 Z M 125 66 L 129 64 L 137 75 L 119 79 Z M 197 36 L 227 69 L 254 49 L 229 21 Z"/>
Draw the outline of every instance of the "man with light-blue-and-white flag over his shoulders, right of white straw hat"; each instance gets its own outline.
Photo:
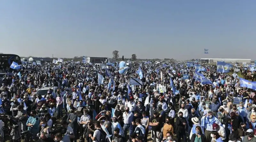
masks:
<path id="1" fill-rule="evenodd" d="M 201 119 L 201 125 L 202 127 L 205 129 L 205 137 L 207 139 L 207 141 L 211 141 L 212 137 L 212 131 L 213 131 L 213 123 L 218 124 L 219 126 L 222 126 L 222 124 L 220 123 L 220 121 L 218 120 L 218 118 L 216 118 L 215 116 L 213 116 L 212 111 L 209 111 L 207 114 L 204 113 L 205 116 L 202 117 Z"/>

